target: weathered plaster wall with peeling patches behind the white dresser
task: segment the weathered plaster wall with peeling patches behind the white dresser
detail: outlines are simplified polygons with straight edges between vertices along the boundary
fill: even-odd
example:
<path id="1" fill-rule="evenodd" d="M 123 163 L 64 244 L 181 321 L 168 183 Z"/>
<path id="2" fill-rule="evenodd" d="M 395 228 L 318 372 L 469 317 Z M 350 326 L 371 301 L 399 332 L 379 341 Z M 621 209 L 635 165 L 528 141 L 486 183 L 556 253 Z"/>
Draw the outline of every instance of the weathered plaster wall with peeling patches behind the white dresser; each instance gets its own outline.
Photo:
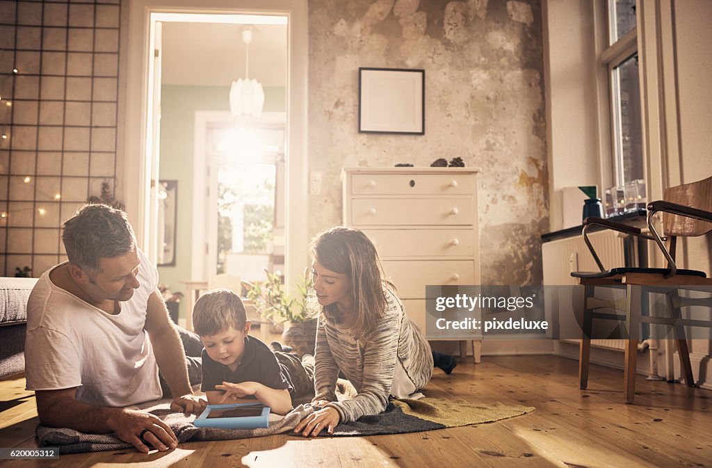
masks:
<path id="1" fill-rule="evenodd" d="M 311 0 L 309 234 L 341 224 L 342 167 L 482 168 L 484 284 L 540 284 L 548 229 L 538 0 Z M 358 133 L 358 68 L 425 69 L 425 135 Z"/>

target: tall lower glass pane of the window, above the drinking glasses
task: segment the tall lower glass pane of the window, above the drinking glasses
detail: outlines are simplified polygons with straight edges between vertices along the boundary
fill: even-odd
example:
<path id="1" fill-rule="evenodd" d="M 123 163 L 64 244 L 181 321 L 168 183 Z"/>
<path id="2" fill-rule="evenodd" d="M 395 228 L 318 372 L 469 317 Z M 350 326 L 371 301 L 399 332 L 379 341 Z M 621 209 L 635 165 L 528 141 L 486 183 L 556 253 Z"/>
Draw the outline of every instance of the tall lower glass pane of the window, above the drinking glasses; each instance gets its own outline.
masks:
<path id="1" fill-rule="evenodd" d="M 637 55 L 613 69 L 614 142 L 620 185 L 643 179 L 643 138 Z"/>

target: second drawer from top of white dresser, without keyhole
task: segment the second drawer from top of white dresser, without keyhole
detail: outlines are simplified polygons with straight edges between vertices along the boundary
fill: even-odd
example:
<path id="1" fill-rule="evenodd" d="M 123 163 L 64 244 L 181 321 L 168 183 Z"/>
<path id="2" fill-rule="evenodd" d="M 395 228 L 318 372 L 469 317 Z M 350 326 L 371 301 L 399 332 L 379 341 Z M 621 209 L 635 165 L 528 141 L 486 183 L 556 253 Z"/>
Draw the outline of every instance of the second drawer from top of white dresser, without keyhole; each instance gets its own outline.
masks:
<path id="1" fill-rule="evenodd" d="M 471 226 L 475 215 L 469 198 L 379 198 L 351 200 L 353 226 Z"/>

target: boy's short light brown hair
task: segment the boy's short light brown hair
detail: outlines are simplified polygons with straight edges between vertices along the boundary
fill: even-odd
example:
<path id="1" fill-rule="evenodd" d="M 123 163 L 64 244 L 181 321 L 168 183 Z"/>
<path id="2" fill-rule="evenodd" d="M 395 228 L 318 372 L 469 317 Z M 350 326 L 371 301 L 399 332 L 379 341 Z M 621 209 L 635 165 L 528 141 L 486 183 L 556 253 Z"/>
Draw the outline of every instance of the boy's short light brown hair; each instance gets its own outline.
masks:
<path id="1" fill-rule="evenodd" d="M 247 322 L 242 299 L 229 289 L 213 289 L 201 296 L 193 309 L 193 327 L 199 336 L 213 336 L 244 328 Z"/>

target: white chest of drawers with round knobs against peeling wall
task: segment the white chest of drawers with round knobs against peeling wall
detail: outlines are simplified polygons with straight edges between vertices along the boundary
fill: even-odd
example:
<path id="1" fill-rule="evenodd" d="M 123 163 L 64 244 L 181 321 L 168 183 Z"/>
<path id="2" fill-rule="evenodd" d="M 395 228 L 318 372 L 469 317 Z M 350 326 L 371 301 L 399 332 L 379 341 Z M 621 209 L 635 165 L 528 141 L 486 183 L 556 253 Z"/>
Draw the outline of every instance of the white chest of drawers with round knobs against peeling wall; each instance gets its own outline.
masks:
<path id="1" fill-rule="evenodd" d="M 343 223 L 376 245 L 406 313 L 425 331 L 425 286 L 480 284 L 473 167 L 345 168 Z M 473 342 L 479 362 L 481 341 Z M 464 341 L 461 355 L 464 356 Z"/>

